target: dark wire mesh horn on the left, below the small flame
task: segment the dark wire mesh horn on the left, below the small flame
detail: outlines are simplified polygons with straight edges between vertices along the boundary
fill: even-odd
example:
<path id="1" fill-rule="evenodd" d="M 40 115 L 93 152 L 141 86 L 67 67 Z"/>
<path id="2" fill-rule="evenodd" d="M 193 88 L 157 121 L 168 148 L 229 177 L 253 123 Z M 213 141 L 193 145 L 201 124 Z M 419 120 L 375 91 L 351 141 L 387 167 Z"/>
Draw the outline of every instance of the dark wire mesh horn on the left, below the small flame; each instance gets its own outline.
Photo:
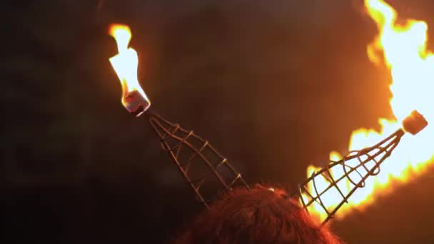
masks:
<path id="1" fill-rule="evenodd" d="M 171 156 L 196 198 L 206 208 L 209 208 L 208 204 L 212 200 L 235 185 L 249 188 L 241 173 L 208 141 L 156 113 L 147 111 L 146 114 L 152 128 L 161 138 L 161 148 Z"/>

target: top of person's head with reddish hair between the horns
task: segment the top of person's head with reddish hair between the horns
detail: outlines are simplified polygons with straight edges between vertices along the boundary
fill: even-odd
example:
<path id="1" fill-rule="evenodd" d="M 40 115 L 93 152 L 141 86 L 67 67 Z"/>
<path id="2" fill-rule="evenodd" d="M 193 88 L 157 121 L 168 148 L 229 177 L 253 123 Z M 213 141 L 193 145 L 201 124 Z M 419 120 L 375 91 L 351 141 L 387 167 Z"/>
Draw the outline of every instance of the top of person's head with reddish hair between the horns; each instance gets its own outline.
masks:
<path id="1" fill-rule="evenodd" d="M 341 243 L 285 194 L 260 185 L 233 189 L 173 243 Z"/>

